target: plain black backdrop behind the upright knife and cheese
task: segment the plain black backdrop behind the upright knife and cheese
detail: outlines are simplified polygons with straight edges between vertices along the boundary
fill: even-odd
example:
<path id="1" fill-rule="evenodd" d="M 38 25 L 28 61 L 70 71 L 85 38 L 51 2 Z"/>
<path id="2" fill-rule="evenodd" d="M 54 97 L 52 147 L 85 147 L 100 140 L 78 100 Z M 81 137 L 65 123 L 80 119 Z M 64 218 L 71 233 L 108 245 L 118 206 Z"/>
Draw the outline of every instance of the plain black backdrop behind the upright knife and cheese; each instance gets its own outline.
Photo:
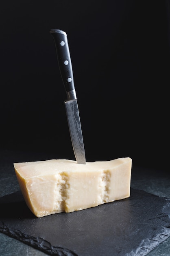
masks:
<path id="1" fill-rule="evenodd" d="M 169 159 L 170 1 L 2 0 L 0 149 L 74 159 L 50 29 L 68 34 L 87 161 Z"/>

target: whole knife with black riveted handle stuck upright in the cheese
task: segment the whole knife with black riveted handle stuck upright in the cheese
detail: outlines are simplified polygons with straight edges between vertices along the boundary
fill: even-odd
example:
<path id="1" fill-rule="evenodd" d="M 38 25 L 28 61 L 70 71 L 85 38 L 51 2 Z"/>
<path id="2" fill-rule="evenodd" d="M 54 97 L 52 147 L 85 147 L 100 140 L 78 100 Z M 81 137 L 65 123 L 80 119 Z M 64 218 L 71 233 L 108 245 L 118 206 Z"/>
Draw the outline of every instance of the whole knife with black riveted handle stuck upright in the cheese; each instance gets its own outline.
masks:
<path id="1" fill-rule="evenodd" d="M 74 155 L 78 164 L 85 164 L 85 149 L 78 111 L 76 90 L 74 87 L 67 34 L 60 29 L 51 29 L 50 34 L 54 39 L 59 69 L 68 97 L 64 102 Z"/>

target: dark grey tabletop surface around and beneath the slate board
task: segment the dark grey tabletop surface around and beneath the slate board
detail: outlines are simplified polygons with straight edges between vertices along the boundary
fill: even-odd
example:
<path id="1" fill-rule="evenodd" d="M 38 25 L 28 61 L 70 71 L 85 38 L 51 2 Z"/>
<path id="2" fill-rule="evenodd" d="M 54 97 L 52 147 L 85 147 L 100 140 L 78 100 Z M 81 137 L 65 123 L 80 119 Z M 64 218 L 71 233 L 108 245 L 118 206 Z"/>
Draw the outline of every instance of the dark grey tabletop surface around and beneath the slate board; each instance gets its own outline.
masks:
<path id="1" fill-rule="evenodd" d="M 28 153 L 28 152 L 0 152 L 0 197 L 20 190 L 13 162 L 27 162 L 35 160 L 44 160 L 54 158 L 54 155 Z M 141 189 L 146 192 L 158 195 L 161 197 L 170 198 L 170 177 L 165 171 L 155 171 L 151 168 L 139 166 L 132 167 L 131 187 Z M 159 244 L 155 249 L 149 252 L 148 256 L 169 256 L 170 252 L 170 237 Z M 15 255 L 47 255 L 31 246 L 28 246 L 14 238 L 0 233 L 0 255 L 15 256 Z"/>

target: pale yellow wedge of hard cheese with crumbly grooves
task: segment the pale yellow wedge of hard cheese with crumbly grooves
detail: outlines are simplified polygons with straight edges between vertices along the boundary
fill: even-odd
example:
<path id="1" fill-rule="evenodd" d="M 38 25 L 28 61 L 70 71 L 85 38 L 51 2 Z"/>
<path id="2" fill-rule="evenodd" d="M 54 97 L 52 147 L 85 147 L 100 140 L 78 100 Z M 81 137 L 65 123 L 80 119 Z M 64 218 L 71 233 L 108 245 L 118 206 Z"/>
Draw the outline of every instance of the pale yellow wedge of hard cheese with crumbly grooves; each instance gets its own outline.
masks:
<path id="1" fill-rule="evenodd" d="M 14 163 L 20 189 L 37 217 L 96 207 L 130 196 L 132 159 L 77 164 L 67 159 Z"/>

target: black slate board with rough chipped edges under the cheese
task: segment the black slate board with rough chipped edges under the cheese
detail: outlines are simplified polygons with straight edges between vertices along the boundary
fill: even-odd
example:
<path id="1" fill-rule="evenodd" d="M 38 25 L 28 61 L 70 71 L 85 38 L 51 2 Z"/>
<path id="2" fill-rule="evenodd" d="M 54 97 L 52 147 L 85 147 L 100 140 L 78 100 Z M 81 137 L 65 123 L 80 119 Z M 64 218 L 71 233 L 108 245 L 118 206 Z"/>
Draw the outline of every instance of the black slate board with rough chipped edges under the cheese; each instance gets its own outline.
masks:
<path id="1" fill-rule="evenodd" d="M 36 218 L 18 191 L 0 198 L 0 231 L 49 255 L 144 256 L 170 236 L 170 200 L 131 189 L 124 200 Z"/>

